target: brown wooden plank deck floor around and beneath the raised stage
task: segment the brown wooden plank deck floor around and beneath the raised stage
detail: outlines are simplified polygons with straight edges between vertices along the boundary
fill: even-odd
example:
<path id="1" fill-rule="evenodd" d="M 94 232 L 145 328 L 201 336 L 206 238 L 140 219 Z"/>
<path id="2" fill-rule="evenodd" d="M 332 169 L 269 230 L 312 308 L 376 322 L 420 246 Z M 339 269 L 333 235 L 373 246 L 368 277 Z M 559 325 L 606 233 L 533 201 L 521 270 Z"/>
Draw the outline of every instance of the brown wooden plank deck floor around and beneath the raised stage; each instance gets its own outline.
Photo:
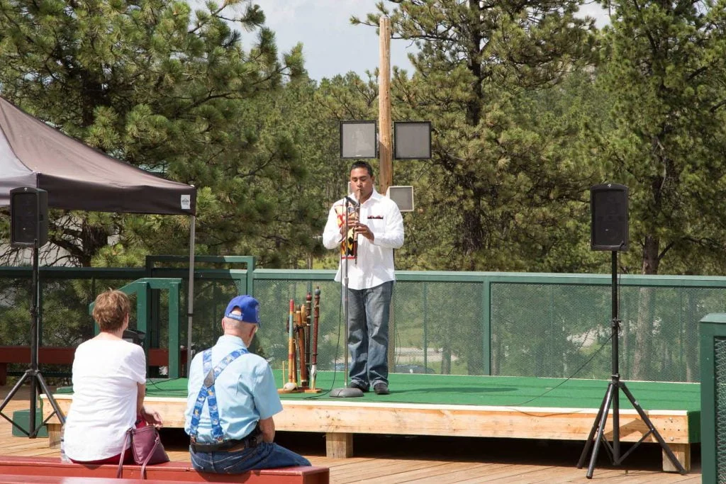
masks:
<path id="1" fill-rule="evenodd" d="M 10 387 L 0 387 L 4 398 Z M 29 408 L 27 389 L 10 401 L 3 413 Z M 188 461 L 184 432 L 163 432 L 166 450 L 174 461 Z M 600 451 L 592 480 L 575 465 L 582 444 L 552 440 L 484 438 L 417 438 L 356 435 L 356 456 L 351 459 L 325 457 L 325 437 L 317 433 L 278 433 L 277 441 L 300 452 L 314 465 L 330 467 L 330 482 L 396 483 L 700 483 L 700 453 L 693 455 L 688 475 L 661 472 L 661 450 L 654 444 L 640 446 L 621 467 L 613 467 Z M 48 448 L 47 438 L 12 436 L 12 426 L 0 419 L 0 454 L 13 456 L 58 456 Z M 603 459 L 603 457 L 605 457 Z"/>

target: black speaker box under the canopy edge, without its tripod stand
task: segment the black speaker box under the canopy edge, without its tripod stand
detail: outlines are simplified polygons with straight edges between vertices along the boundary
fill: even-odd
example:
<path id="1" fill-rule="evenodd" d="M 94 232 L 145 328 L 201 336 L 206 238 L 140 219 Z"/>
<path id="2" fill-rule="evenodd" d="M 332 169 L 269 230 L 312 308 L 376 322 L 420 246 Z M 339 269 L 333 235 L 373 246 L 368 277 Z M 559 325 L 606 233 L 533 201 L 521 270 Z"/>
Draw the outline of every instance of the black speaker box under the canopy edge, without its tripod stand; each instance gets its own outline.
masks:
<path id="1" fill-rule="evenodd" d="M 48 192 L 31 186 L 10 190 L 10 245 L 42 247 L 48 242 Z"/>

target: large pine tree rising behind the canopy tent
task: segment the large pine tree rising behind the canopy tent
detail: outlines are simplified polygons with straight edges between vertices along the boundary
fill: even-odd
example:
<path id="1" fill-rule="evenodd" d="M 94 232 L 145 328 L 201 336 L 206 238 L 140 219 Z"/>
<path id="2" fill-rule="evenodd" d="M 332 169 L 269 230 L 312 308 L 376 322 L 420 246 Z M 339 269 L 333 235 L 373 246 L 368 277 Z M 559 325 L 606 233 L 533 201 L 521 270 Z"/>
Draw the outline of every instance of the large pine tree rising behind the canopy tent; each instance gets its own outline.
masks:
<path id="1" fill-rule="evenodd" d="M 264 218 L 264 204 L 237 191 L 238 175 L 253 170 L 240 165 L 258 143 L 256 131 L 237 117 L 247 100 L 302 71 L 300 46 L 278 60 L 258 6 L 227 0 L 207 7 L 192 12 L 183 1 L 0 0 L 4 97 L 110 155 L 197 186 L 203 247 L 215 243 L 205 239 L 212 220 L 234 220 L 238 213 Z M 256 30 L 257 43 L 243 49 L 230 25 Z M 162 247 L 186 246 L 186 231 L 179 230 L 184 221 L 125 219 L 59 214 L 50 241 L 83 266 L 126 223 L 139 229 L 171 223 L 160 234 Z M 124 248 L 107 249 L 104 258 L 113 251 Z"/>

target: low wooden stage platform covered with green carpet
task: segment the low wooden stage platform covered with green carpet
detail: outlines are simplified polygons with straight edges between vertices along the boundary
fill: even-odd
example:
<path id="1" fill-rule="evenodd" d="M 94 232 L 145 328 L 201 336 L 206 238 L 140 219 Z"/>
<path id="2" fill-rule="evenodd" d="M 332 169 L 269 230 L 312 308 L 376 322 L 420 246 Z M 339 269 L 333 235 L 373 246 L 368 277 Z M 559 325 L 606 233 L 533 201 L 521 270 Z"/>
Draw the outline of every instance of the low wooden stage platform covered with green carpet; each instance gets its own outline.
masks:
<path id="1" fill-rule="evenodd" d="M 280 372 L 276 378 L 282 386 Z M 356 455 L 354 435 L 433 435 L 469 438 L 576 440 L 584 444 L 595 422 L 608 382 L 525 377 L 461 377 L 392 374 L 391 395 L 330 398 L 327 392 L 282 396 L 284 410 L 275 416 L 277 430 L 322 432 L 329 459 Z M 681 464 L 690 469 L 691 446 L 700 442 L 698 384 L 626 382 Z M 187 381 L 155 380 L 147 385 L 147 405 L 162 414 L 166 427 L 184 427 Z M 343 385 L 338 372 L 322 372 L 324 390 Z M 71 394 L 54 394 L 63 411 Z M 637 442 L 648 431 L 624 395 L 620 398 L 621 442 Z M 43 406 L 44 415 L 50 406 Z M 612 419 L 605 427 L 612 435 Z M 49 444 L 60 441 L 60 425 L 49 422 Z M 656 442 L 650 436 L 646 442 Z M 603 452 L 604 454 L 604 452 Z M 674 471 L 662 456 L 666 471 Z"/>

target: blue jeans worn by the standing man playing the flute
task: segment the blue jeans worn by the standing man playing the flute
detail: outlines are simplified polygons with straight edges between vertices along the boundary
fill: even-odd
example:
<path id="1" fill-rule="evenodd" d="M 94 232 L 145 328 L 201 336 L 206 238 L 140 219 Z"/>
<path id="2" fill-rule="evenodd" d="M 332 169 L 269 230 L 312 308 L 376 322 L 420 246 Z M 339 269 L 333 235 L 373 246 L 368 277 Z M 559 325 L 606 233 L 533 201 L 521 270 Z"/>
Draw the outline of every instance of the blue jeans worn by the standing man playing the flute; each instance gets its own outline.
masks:
<path id="1" fill-rule="evenodd" d="M 351 382 L 388 385 L 388 313 L 393 281 L 370 289 L 348 289 L 348 350 Z"/>

